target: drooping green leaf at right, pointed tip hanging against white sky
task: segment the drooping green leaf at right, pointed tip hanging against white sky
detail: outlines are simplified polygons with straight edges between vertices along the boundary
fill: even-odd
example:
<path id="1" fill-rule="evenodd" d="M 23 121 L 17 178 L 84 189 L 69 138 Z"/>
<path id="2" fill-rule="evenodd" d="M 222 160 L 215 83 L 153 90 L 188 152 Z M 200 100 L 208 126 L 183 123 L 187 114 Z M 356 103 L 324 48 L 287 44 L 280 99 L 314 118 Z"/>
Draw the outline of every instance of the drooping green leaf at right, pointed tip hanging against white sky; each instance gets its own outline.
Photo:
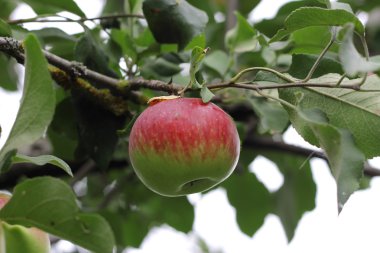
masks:
<path id="1" fill-rule="evenodd" d="M 306 97 L 303 96 L 302 101 Z M 301 108 L 301 107 L 299 107 Z M 352 135 L 342 128 L 328 123 L 328 118 L 319 109 L 301 110 L 286 106 L 291 121 L 301 135 L 305 129 L 312 135 L 312 142 L 321 147 L 327 155 L 332 174 L 337 182 L 338 211 L 340 212 L 353 192 L 359 189 L 363 175 L 365 156 L 359 150 Z M 300 127 L 302 126 L 302 130 Z"/>

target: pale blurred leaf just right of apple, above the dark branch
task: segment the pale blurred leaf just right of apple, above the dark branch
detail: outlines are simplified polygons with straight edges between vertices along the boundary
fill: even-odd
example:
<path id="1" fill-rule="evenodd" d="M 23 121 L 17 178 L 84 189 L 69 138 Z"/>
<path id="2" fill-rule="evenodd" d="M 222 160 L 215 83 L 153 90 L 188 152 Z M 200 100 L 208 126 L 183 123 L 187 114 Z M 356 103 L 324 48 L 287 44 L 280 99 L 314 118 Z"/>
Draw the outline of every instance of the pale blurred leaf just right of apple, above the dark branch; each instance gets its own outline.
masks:
<path id="1" fill-rule="evenodd" d="M 260 134 L 279 134 L 288 127 L 288 114 L 278 103 L 262 97 L 253 97 L 249 102 L 259 117 L 258 131 Z"/>

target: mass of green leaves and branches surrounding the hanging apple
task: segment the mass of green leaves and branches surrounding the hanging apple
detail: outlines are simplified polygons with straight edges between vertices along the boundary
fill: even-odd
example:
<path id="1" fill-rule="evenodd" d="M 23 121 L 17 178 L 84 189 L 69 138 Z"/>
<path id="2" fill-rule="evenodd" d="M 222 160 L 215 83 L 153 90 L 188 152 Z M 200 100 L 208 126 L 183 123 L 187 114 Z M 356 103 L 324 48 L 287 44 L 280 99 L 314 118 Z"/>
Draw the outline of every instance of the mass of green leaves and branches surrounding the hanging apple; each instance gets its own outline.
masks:
<path id="1" fill-rule="evenodd" d="M 0 218 L 102 253 L 139 247 L 160 224 L 191 231 L 188 198 L 147 190 L 127 155 L 128 132 L 146 101 L 168 93 L 211 100 L 234 118 L 240 159 L 218 187 L 243 233 L 253 236 L 273 213 L 290 241 L 315 207 L 315 153 L 283 143 L 290 125 L 323 149 L 342 210 L 367 177 L 366 159 L 380 155 L 380 26 L 357 17 L 366 11 L 375 19 L 377 1 L 293 1 L 252 23 L 248 10 L 259 2 L 236 1 L 235 10 L 219 0 L 105 1 L 102 17 L 90 22 L 73 0 L 0 0 L 0 87 L 23 90 L 0 150 L 0 179 L 15 182 L 0 185 L 14 194 Z M 36 16 L 10 20 L 21 3 Z M 78 23 L 82 32 L 67 33 L 54 20 Z M 29 22 L 48 27 L 28 30 Z M 16 61 L 25 66 L 23 85 Z M 21 153 L 38 140 L 47 152 Z M 275 192 L 249 169 L 258 155 L 284 175 Z"/>

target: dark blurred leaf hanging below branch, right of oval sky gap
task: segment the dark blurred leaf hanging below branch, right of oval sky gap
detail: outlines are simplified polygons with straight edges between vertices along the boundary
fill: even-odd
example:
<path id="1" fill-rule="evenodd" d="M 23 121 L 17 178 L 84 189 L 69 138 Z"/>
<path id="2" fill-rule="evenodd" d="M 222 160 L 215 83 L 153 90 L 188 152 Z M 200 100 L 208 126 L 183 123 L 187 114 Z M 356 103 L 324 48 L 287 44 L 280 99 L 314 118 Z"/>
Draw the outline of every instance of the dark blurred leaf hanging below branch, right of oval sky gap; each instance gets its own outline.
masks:
<path id="1" fill-rule="evenodd" d="M 316 185 L 309 158 L 280 152 L 264 152 L 263 155 L 276 163 L 284 175 L 284 184 L 273 197 L 275 213 L 291 241 L 303 214 L 315 208 Z"/>

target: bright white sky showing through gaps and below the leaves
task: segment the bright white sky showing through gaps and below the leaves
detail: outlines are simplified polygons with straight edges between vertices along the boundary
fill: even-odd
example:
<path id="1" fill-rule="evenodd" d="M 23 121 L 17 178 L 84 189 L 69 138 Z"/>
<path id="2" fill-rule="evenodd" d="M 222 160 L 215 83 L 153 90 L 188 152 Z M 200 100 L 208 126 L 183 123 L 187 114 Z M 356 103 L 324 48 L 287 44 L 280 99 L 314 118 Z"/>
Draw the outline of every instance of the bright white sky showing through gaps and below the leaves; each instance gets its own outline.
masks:
<path id="1" fill-rule="evenodd" d="M 82 10 L 89 17 L 99 14 L 101 1 L 77 0 Z M 275 15 L 279 6 L 286 0 L 262 0 L 251 14 L 257 21 Z M 24 6 L 13 18 L 32 17 L 34 13 Z M 49 24 L 52 25 L 52 24 Z M 68 24 L 65 30 L 74 32 Z M 40 26 L 30 24 L 28 27 Z M 78 30 L 79 31 L 79 30 Z M 5 93 L 0 90 L 0 125 L 3 136 L 0 146 L 7 136 L 17 113 L 20 94 Z M 305 145 L 302 138 L 290 129 L 285 140 L 297 145 Z M 380 162 L 374 162 L 380 167 Z M 267 168 L 266 170 L 257 168 Z M 277 168 L 264 158 L 257 158 L 252 171 L 271 191 L 281 187 L 283 178 Z M 197 253 L 196 238 L 200 236 L 215 252 L 379 252 L 380 240 L 380 178 L 374 178 L 371 187 L 355 193 L 338 216 L 336 209 L 336 188 L 328 167 L 324 161 L 312 160 L 312 173 L 317 184 L 315 210 L 308 212 L 301 219 L 293 241 L 288 244 L 281 223 L 277 216 L 268 215 L 264 225 L 252 237 L 242 234 L 236 224 L 235 210 L 228 204 L 226 194 L 217 189 L 206 195 L 190 196 L 195 205 L 196 218 L 191 234 L 179 233 L 168 226 L 153 229 L 143 242 L 141 249 L 128 249 L 126 253 Z M 259 205 L 260 203 L 258 203 Z M 62 242 L 60 248 L 70 248 Z M 61 251 L 63 252 L 63 251 Z"/>

